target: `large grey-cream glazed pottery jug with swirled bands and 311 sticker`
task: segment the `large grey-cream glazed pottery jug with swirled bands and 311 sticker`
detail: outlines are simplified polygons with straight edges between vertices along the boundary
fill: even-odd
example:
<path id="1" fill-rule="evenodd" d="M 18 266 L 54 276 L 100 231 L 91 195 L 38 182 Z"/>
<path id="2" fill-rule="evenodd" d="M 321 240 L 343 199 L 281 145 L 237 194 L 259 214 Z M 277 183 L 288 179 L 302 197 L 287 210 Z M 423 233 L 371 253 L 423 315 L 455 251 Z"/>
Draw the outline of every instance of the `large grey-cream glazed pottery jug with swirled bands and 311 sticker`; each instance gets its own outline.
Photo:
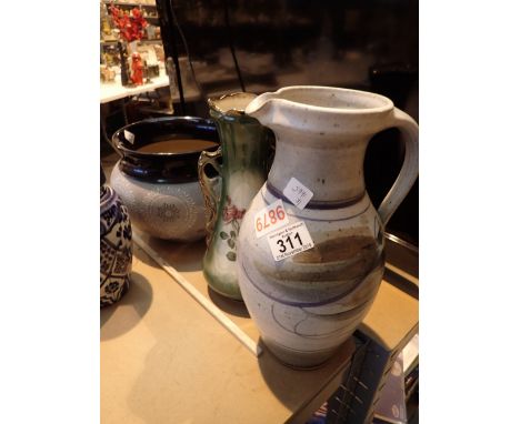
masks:
<path id="1" fill-rule="evenodd" d="M 264 93 L 246 113 L 274 132 L 277 151 L 239 234 L 240 290 L 268 349 L 288 365 L 314 367 L 352 334 L 376 297 L 384 225 L 418 176 L 419 128 L 382 95 L 327 87 Z M 364 188 L 364 153 L 391 127 L 402 132 L 406 158 L 376 211 Z M 291 178 L 313 193 L 303 210 L 283 194 Z M 257 238 L 254 216 L 278 200 L 289 225 L 302 221 L 314 245 L 274 261 L 269 234 Z"/>

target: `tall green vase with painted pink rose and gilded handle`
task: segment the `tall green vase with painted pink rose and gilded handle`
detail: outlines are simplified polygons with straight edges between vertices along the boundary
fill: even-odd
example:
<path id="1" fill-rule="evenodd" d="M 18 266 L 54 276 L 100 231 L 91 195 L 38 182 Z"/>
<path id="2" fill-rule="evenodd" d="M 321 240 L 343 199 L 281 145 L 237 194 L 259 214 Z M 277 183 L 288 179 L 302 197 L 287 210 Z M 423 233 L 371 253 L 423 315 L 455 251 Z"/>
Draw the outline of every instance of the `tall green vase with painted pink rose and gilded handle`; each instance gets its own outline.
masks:
<path id="1" fill-rule="evenodd" d="M 270 130 L 243 112 L 254 98 L 239 92 L 208 100 L 221 145 L 217 152 L 202 152 L 199 159 L 199 181 L 208 212 L 203 273 L 211 289 L 234 300 L 242 300 L 237 270 L 240 224 L 267 180 L 273 142 Z M 207 165 L 217 170 L 220 181 L 208 178 Z"/>

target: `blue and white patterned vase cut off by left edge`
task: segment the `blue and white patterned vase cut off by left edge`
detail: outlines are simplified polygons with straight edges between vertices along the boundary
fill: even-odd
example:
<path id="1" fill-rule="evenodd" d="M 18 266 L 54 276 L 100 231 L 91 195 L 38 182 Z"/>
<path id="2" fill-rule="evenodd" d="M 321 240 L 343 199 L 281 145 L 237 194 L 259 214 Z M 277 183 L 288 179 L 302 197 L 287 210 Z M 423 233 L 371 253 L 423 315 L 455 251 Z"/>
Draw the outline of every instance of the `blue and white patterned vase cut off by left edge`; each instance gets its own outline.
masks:
<path id="1" fill-rule="evenodd" d="M 103 307 L 118 302 L 130 285 L 132 226 L 127 206 L 113 189 L 104 183 L 102 170 L 100 194 L 100 296 Z"/>

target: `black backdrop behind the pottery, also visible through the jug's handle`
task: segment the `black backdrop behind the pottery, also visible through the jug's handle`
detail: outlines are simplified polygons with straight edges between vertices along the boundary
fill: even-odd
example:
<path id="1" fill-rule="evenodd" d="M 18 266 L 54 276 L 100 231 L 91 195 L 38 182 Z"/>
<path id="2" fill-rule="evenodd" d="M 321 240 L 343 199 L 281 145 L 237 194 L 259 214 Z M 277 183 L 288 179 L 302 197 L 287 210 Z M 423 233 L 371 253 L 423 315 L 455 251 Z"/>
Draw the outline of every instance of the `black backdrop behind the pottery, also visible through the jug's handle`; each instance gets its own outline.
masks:
<path id="1" fill-rule="evenodd" d="M 387 95 L 419 121 L 417 0 L 157 0 L 157 6 L 166 54 L 180 57 L 187 101 L 174 105 L 176 114 L 208 117 L 208 95 L 316 84 Z M 202 95 L 190 99 L 190 87 Z M 376 206 L 403 153 L 397 130 L 372 139 L 364 171 Z M 387 226 L 414 245 L 418 186 Z"/>

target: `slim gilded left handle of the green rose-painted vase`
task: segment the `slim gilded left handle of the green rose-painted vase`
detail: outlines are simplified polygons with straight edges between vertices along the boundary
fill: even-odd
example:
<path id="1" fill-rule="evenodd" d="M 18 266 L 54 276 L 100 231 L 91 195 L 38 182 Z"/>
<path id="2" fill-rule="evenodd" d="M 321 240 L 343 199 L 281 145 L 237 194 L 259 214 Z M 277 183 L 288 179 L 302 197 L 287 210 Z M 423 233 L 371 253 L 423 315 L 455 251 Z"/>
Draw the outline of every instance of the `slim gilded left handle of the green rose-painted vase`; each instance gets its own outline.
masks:
<path id="1" fill-rule="evenodd" d="M 219 203 L 220 193 L 214 190 L 214 182 L 206 174 L 206 165 L 210 164 L 221 175 L 221 165 L 217 162 L 218 158 L 222 157 L 222 148 L 219 147 L 214 152 L 203 150 L 199 157 L 199 183 L 204 196 L 206 210 L 208 219 L 206 221 L 206 244 L 209 245 L 213 236 L 214 224 L 217 222 L 217 205 Z"/>

